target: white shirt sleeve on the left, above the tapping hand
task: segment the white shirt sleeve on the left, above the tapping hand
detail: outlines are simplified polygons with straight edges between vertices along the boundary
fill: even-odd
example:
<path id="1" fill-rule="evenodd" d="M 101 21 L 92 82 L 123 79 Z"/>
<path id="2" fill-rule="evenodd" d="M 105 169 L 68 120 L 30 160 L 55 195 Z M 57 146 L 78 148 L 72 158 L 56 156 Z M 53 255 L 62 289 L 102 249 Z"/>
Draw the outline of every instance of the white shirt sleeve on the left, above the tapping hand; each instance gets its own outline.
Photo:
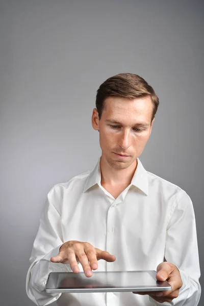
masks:
<path id="1" fill-rule="evenodd" d="M 61 207 L 55 187 L 53 187 L 47 195 L 26 279 L 27 295 L 37 305 L 52 303 L 61 295 L 61 293 L 54 294 L 44 291 L 48 274 L 71 271 L 67 264 L 50 262 L 50 258 L 59 253 L 62 244 Z"/>

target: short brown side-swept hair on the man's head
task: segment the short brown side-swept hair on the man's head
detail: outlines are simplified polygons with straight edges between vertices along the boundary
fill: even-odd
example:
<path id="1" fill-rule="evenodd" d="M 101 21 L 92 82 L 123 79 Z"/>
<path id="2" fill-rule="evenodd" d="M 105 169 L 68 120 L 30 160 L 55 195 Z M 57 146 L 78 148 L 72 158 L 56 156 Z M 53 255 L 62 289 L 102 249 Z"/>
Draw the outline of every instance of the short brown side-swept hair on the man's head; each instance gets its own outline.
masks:
<path id="1" fill-rule="evenodd" d="M 143 78 L 133 73 L 119 73 L 100 85 L 96 94 L 96 109 L 99 119 L 105 108 L 104 101 L 109 96 L 129 99 L 150 96 L 154 106 L 151 121 L 159 106 L 159 98 L 154 89 Z"/>

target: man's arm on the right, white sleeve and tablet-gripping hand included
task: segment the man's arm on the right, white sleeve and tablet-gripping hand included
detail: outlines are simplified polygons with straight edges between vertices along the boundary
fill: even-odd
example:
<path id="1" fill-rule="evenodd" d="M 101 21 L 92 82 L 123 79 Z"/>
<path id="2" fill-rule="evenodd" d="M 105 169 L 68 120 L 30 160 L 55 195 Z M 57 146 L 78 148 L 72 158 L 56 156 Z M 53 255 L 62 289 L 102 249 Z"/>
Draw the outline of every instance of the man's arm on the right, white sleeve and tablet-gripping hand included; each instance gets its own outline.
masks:
<path id="1" fill-rule="evenodd" d="M 149 300 L 163 306 L 197 306 L 200 298 L 200 268 L 195 215 L 190 197 L 181 191 L 172 206 L 166 232 L 165 262 L 157 267 L 158 281 L 171 285 L 171 291 L 149 294 Z M 141 292 L 141 295 L 148 292 Z"/>

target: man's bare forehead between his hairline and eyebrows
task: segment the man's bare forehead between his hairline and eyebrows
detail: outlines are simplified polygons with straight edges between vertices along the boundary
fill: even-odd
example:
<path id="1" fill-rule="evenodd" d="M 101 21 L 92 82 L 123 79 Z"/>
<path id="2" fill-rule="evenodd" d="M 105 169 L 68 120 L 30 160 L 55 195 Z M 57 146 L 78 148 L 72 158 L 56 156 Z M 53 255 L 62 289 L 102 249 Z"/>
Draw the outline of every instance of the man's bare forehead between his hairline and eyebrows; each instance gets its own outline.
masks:
<path id="1" fill-rule="evenodd" d="M 151 121 L 153 104 L 149 96 L 127 99 L 121 97 L 108 97 L 105 100 L 105 108 L 102 117 L 114 119 L 121 123 L 137 123 L 138 121 L 149 123 Z"/>

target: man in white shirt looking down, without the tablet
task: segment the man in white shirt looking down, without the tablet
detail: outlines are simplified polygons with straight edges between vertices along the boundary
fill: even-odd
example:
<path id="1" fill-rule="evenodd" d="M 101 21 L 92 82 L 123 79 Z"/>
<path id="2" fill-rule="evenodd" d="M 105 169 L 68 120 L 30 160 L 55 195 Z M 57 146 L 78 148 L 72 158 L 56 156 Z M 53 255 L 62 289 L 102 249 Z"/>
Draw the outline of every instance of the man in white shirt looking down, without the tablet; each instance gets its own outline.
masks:
<path id="1" fill-rule="evenodd" d="M 39 305 L 197 305 L 199 260 L 192 202 L 181 188 L 145 171 L 138 157 L 159 105 L 139 75 L 100 85 L 93 129 L 101 157 L 92 171 L 50 190 L 31 254 L 27 294 Z M 171 161 L 172 162 L 172 161 Z M 164 292 L 47 294 L 52 271 L 155 270 Z M 59 298 L 60 297 L 60 298 Z"/>

